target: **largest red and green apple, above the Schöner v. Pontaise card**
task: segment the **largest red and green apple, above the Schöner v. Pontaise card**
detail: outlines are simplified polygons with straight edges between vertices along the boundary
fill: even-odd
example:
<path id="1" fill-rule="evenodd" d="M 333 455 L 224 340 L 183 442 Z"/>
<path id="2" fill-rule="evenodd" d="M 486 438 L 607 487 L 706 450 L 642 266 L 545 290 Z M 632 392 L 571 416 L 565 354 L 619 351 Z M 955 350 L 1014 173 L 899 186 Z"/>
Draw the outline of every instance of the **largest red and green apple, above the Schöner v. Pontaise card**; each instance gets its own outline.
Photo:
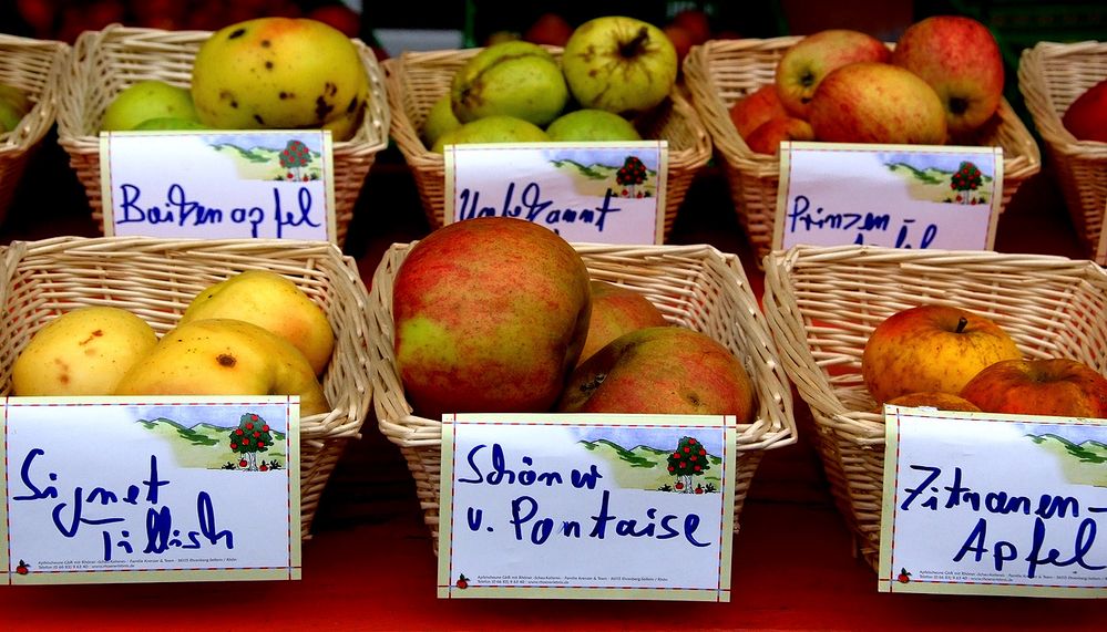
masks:
<path id="1" fill-rule="evenodd" d="M 419 241 L 392 287 L 416 414 L 547 411 L 584 345 L 588 281 L 567 241 L 523 219 L 468 219 Z"/>

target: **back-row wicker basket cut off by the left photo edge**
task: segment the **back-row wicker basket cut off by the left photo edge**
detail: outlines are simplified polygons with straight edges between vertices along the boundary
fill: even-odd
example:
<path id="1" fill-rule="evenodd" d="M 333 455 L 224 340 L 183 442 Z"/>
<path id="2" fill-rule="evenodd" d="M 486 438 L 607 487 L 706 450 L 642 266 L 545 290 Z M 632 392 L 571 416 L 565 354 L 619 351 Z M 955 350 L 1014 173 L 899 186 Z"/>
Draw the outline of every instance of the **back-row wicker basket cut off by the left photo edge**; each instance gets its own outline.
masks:
<path id="1" fill-rule="evenodd" d="M 0 33 L 0 84 L 19 87 L 34 102 L 18 127 L 0 134 L 0 222 L 32 151 L 54 124 L 58 82 L 69 55 L 64 42 Z"/>

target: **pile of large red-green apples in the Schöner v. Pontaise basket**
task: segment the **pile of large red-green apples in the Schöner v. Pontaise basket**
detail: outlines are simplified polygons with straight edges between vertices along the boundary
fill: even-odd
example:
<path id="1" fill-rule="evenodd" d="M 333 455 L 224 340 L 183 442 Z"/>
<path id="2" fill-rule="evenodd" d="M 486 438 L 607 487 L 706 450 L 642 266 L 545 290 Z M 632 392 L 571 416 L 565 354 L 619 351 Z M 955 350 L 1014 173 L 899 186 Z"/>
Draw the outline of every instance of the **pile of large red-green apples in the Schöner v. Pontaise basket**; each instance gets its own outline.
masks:
<path id="1" fill-rule="evenodd" d="M 726 414 L 754 387 L 721 343 L 594 281 L 556 232 L 509 217 L 448 224 L 392 283 L 396 365 L 414 413 Z"/>

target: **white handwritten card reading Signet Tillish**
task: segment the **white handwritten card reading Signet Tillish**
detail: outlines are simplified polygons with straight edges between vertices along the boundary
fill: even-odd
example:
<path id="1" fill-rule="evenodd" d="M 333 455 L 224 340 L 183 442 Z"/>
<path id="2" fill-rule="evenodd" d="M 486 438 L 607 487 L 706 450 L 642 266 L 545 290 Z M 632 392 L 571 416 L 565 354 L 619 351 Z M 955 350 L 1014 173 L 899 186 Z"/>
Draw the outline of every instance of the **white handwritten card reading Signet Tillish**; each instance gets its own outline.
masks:
<path id="1" fill-rule="evenodd" d="M 8 583 L 300 579 L 298 397 L 10 397 Z"/>

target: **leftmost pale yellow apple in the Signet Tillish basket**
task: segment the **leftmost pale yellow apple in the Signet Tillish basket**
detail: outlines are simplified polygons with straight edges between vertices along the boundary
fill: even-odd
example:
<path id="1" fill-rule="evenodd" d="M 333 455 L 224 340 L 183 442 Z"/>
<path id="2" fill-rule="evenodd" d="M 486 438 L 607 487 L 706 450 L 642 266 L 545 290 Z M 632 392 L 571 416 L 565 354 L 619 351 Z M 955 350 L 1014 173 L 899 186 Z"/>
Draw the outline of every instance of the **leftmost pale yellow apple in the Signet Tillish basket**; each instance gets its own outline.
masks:
<path id="1" fill-rule="evenodd" d="M 40 329 L 12 364 L 16 395 L 110 395 L 157 343 L 137 315 L 113 307 L 79 308 Z"/>

